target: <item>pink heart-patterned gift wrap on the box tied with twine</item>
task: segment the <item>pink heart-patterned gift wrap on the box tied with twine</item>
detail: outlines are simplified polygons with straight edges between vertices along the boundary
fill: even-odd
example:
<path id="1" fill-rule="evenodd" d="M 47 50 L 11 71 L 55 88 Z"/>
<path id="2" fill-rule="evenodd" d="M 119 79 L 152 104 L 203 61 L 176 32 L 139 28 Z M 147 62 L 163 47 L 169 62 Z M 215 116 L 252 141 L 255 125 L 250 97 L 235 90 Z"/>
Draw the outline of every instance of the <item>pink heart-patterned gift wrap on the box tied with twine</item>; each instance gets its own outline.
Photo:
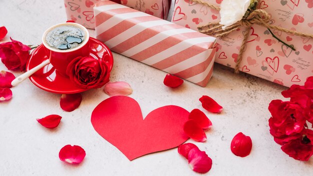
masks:
<path id="1" fill-rule="evenodd" d="M 222 0 L 206 0 L 219 6 Z M 304 33 L 313 33 L 313 0 L 260 0 L 258 7 L 270 14 L 270 23 Z M 189 0 L 176 0 L 172 22 L 197 30 L 198 25 L 218 22 L 219 12 Z M 244 27 L 217 39 L 215 62 L 235 67 Z M 240 62 L 240 71 L 284 86 L 304 84 L 313 75 L 313 38 L 305 38 L 253 24 Z"/>

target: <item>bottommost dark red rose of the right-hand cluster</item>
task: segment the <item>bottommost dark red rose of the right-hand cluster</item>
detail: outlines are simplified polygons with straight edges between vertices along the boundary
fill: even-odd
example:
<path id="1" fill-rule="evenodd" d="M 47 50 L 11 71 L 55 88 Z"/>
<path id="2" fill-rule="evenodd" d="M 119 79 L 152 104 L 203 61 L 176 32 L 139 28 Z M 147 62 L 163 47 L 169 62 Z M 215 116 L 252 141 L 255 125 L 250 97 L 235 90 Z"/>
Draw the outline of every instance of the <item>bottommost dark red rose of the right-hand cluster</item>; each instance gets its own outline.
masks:
<path id="1" fill-rule="evenodd" d="M 296 139 L 281 146 L 281 150 L 298 160 L 308 160 L 313 154 L 313 131 L 304 129 Z"/>

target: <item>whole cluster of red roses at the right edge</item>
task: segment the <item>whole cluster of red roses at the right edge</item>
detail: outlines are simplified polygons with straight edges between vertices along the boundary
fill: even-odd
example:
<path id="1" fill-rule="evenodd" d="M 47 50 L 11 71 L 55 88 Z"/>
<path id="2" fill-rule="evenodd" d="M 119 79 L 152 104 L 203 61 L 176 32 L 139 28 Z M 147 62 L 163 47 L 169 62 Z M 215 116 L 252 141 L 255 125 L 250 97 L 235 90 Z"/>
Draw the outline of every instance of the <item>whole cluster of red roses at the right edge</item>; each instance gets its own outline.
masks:
<path id="1" fill-rule="evenodd" d="M 270 134 L 283 152 L 307 161 L 313 154 L 313 76 L 304 85 L 293 84 L 281 94 L 290 100 L 275 99 L 269 103 Z"/>

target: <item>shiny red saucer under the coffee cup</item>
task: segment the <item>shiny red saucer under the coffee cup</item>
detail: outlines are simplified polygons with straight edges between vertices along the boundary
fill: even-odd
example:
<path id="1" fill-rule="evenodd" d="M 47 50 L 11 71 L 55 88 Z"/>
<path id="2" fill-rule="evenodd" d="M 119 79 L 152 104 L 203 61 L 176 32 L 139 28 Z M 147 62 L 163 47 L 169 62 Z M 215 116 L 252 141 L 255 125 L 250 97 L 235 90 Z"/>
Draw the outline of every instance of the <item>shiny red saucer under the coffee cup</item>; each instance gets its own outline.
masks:
<path id="1" fill-rule="evenodd" d="M 90 37 L 89 39 L 89 56 L 96 59 L 106 59 L 105 61 L 109 63 L 109 69 L 111 70 L 113 66 L 113 55 L 109 48 L 95 38 Z M 110 57 L 102 57 L 105 54 L 108 54 Z M 48 59 L 48 57 L 45 55 L 43 45 L 40 44 L 30 53 L 30 57 L 26 63 L 26 70 L 28 71 L 46 59 Z M 37 72 L 32 74 L 29 79 L 37 87 L 52 93 L 70 94 L 88 90 L 86 88 L 79 87 L 72 82 L 69 77 L 60 74 L 51 64 L 47 64 L 43 68 L 39 69 Z"/>

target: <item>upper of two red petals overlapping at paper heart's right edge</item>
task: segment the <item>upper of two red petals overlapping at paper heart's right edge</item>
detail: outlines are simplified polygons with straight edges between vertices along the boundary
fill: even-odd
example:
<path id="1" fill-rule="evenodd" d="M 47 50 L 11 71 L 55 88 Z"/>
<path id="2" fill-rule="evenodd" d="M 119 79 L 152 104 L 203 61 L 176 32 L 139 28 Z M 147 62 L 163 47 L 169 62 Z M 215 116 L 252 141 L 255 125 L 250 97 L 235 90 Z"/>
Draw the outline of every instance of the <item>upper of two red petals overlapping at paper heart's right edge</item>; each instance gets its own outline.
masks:
<path id="1" fill-rule="evenodd" d="M 207 129 L 212 126 L 212 122 L 200 109 L 191 110 L 188 118 L 193 119 L 198 124 L 198 126 L 200 126 L 203 129 Z"/>

